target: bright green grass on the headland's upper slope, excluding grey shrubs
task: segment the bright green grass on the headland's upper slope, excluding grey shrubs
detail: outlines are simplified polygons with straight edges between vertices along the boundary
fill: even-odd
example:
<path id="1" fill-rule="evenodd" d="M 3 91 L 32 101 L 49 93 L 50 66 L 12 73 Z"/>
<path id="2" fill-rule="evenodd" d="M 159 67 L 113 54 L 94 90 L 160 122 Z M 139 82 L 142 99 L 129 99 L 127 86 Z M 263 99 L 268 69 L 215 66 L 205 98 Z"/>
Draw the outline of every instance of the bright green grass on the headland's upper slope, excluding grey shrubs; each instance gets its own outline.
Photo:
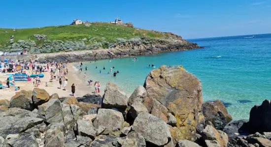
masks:
<path id="1" fill-rule="evenodd" d="M 8 33 L 5 33 L 7 31 Z M 135 38 L 135 37 L 150 37 L 150 38 L 167 38 L 168 34 L 158 31 L 144 30 L 131 28 L 108 23 L 91 23 L 90 26 L 85 25 L 62 25 L 48 26 L 42 28 L 27 28 L 27 29 L 4 29 L 0 28 L 0 48 L 9 45 L 11 35 L 14 35 L 14 40 L 34 40 L 37 44 L 42 44 L 43 41 L 37 41 L 34 34 L 47 35 L 49 40 L 62 41 L 78 41 L 83 38 L 95 38 L 95 40 L 105 40 L 114 42 L 117 38 Z"/>

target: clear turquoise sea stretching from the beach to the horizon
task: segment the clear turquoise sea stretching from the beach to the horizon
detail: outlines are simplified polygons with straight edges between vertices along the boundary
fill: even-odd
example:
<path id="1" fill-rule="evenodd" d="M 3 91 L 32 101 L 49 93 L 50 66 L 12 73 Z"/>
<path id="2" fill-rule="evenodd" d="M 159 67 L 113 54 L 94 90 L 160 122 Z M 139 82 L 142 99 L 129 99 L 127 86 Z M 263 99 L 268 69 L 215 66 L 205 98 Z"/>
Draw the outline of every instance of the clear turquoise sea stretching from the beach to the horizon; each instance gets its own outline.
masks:
<path id="1" fill-rule="evenodd" d="M 88 79 L 100 81 L 103 88 L 112 81 L 131 94 L 152 70 L 148 64 L 182 65 L 202 81 L 204 101 L 221 99 L 234 120 L 248 119 L 255 104 L 271 98 L 271 34 L 244 38 L 250 36 L 193 39 L 189 41 L 204 49 L 137 56 L 136 62 L 133 57 L 83 62 L 83 71 L 87 66 Z M 113 66 L 120 71 L 116 77 L 110 73 Z"/>

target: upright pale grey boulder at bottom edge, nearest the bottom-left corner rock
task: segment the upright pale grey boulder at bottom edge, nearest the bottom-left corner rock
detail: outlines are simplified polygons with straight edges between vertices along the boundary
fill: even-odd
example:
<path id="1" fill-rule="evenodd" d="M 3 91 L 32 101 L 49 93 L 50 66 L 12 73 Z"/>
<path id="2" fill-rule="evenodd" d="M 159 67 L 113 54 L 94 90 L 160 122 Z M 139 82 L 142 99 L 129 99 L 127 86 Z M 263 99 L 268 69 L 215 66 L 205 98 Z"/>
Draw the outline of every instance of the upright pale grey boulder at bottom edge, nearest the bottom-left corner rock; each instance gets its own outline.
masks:
<path id="1" fill-rule="evenodd" d="M 45 137 L 45 147 L 64 147 L 66 128 L 64 123 L 48 125 Z"/>

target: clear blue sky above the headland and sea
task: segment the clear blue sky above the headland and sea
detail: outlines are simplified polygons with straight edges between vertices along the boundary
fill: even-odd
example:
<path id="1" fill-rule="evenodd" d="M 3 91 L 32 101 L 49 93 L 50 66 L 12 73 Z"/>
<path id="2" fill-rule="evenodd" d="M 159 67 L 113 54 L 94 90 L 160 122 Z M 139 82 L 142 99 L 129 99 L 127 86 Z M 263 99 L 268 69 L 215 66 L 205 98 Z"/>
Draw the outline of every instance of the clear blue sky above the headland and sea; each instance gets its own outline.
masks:
<path id="1" fill-rule="evenodd" d="M 271 0 L 0 0 L 0 28 L 74 19 L 173 32 L 185 39 L 271 33 Z"/>

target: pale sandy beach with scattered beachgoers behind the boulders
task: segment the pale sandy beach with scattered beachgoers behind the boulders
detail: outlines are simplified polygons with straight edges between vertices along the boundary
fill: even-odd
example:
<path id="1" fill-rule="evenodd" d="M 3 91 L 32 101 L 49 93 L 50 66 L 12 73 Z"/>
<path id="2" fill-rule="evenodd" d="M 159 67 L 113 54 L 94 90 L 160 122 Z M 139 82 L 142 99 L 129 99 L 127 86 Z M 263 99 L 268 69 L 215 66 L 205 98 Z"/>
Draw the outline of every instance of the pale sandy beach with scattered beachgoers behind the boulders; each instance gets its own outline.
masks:
<path id="1" fill-rule="evenodd" d="M 83 74 L 80 75 L 78 71 L 76 71 L 75 68 L 73 68 L 73 64 L 69 63 L 67 65 L 68 67 L 68 86 L 67 86 L 67 91 L 64 91 L 64 87 L 62 86 L 62 89 L 60 89 L 59 81 L 58 79 L 54 79 L 52 82 L 50 82 L 50 73 L 49 72 L 44 72 L 44 77 L 40 78 L 40 85 L 38 88 L 45 89 L 49 95 L 52 95 L 54 93 L 57 93 L 59 97 L 72 97 L 71 96 L 71 85 L 74 83 L 76 85 L 76 90 L 75 90 L 75 97 L 82 97 L 86 94 L 93 94 L 94 86 L 88 86 L 88 82 L 83 81 L 84 77 Z M 26 70 L 26 73 L 30 75 L 31 71 Z M 14 73 L 0 73 L 0 81 L 2 82 L 3 86 L 6 86 L 5 80 L 8 76 L 7 74 L 14 74 Z M 81 77 L 82 76 L 82 77 Z M 48 86 L 45 86 L 47 82 Z M 27 81 L 27 82 L 15 82 L 16 86 L 20 87 L 20 90 L 33 90 L 36 88 L 36 86 L 33 84 L 33 78 L 32 81 Z M 0 99 L 7 99 L 10 100 L 16 92 L 19 92 L 20 90 L 15 91 L 14 86 L 10 86 L 10 88 L 5 88 L 5 89 L 0 89 Z M 103 91 L 101 95 L 103 94 Z"/>

